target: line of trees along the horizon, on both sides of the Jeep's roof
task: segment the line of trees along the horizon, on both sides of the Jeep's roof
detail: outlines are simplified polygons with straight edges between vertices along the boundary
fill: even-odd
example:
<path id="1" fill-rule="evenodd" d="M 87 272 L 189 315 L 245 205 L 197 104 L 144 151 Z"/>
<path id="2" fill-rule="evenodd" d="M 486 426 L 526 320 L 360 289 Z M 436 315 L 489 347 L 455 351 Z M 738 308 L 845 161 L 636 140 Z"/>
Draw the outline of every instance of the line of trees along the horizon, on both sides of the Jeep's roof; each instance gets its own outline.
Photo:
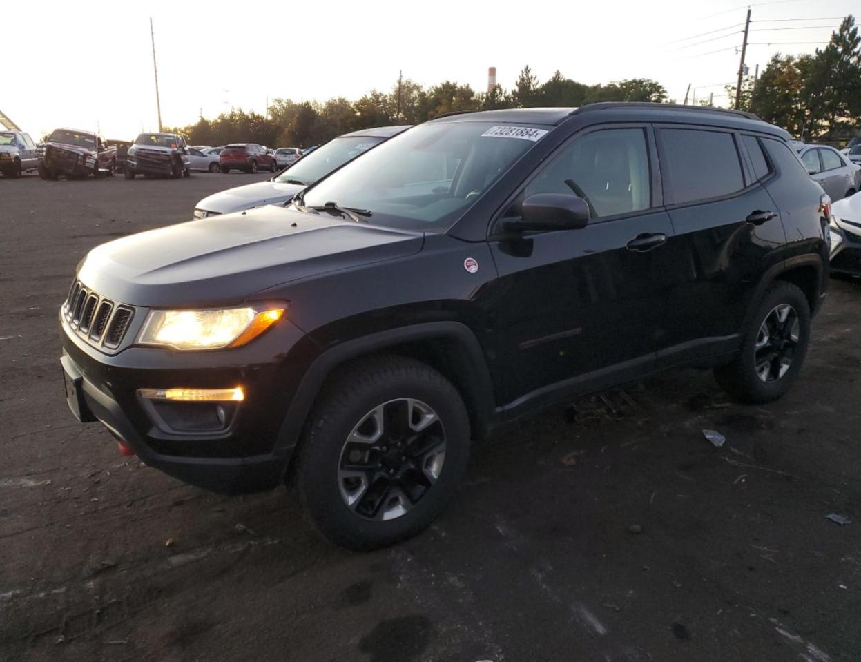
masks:
<path id="1" fill-rule="evenodd" d="M 727 92 L 734 100 L 734 86 Z M 358 129 L 419 124 L 454 111 L 617 101 L 673 102 L 663 85 L 648 78 L 589 85 L 555 71 L 540 83 L 527 65 L 510 90 L 497 84 L 478 92 L 448 80 L 423 87 L 404 79 L 387 92 L 372 90 L 356 101 L 343 96 L 326 102 L 277 98 L 266 115 L 232 108 L 214 120 L 201 117 L 188 127 L 165 131 L 182 133 L 192 145 L 256 142 L 307 147 Z M 812 55 L 775 54 L 759 78 L 744 79 L 740 108 L 803 139 L 833 140 L 857 131 L 861 127 L 861 37 L 855 18 L 846 16 L 828 45 Z"/>

